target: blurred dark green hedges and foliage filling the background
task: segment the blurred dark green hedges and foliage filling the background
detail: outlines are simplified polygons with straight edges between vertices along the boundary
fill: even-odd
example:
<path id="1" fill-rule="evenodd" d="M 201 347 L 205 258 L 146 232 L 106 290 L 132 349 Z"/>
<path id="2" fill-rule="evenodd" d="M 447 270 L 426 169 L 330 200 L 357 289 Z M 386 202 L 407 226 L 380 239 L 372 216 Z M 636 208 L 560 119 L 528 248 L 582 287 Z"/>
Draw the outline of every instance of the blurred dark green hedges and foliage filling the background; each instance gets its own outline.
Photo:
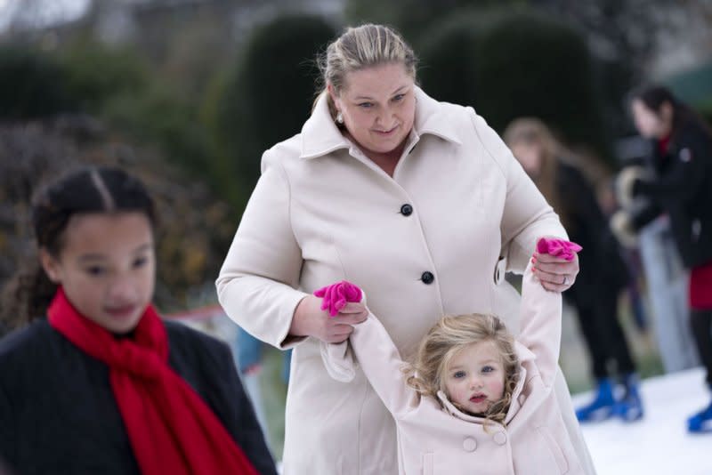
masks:
<path id="1" fill-rule="evenodd" d="M 712 115 L 701 0 L 75 1 L 85 10 L 54 22 L 40 14 L 51 0 L 0 5 L 0 286 L 31 251 L 27 203 L 42 177 L 120 163 L 164 206 L 159 303 L 214 299 L 263 150 L 300 132 L 316 55 L 349 24 L 399 28 L 436 99 L 473 106 L 499 132 L 542 117 L 609 172 L 633 133 L 634 85 L 669 78 Z M 675 68 L 666 44 L 700 71 Z"/>

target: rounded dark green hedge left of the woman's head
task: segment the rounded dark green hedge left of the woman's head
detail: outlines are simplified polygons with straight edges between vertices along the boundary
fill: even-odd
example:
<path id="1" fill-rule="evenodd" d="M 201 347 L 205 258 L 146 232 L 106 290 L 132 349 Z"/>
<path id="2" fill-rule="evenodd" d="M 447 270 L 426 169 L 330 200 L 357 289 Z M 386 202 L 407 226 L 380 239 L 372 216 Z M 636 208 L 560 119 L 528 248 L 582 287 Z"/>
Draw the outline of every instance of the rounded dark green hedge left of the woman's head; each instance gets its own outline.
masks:
<path id="1" fill-rule="evenodd" d="M 248 186 L 265 149 L 299 133 L 310 116 L 315 58 L 336 31 L 316 16 L 288 15 L 255 28 L 213 101 L 214 133 L 223 159 Z"/>

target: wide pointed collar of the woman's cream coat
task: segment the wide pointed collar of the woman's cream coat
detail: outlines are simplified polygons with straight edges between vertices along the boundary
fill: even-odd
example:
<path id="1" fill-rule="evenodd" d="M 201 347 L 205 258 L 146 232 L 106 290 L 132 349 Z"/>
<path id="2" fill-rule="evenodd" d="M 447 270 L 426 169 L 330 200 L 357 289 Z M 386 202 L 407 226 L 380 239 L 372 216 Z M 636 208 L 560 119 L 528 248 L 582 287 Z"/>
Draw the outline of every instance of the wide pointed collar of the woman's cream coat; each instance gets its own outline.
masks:
<path id="1" fill-rule="evenodd" d="M 418 86 L 415 86 L 415 91 L 417 104 L 413 132 L 416 136 L 430 133 L 457 145 L 462 144 L 448 111 Z M 321 93 L 312 116 L 302 127 L 302 152 L 299 157 L 321 157 L 351 146 L 352 143 L 342 135 L 328 112 L 327 93 Z"/>

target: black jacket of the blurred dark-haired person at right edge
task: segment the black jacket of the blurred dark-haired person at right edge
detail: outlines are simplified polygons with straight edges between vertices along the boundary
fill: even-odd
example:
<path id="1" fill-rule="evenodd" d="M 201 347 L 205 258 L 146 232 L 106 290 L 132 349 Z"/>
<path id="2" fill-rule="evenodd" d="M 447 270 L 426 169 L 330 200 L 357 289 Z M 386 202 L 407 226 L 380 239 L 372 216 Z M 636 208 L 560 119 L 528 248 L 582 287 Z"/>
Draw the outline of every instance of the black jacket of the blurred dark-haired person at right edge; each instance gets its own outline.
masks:
<path id="1" fill-rule="evenodd" d="M 656 178 L 635 181 L 634 196 L 651 204 L 636 213 L 635 229 L 667 213 L 670 229 L 687 268 L 712 261 L 712 136 L 688 122 L 662 153 L 653 144 L 651 168 Z"/>

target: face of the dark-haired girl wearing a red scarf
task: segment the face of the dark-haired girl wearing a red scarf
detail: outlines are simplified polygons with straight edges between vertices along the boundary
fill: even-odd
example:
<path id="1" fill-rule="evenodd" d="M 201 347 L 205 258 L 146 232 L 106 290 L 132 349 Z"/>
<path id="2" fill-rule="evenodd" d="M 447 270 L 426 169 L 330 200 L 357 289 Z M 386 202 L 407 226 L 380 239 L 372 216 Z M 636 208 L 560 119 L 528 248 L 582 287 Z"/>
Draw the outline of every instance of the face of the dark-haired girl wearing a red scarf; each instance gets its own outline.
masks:
<path id="1" fill-rule="evenodd" d="M 150 221 L 143 213 L 78 214 L 63 234 L 57 259 L 41 252 L 44 270 L 64 287 L 82 315 L 110 332 L 138 324 L 150 303 L 155 255 Z"/>

